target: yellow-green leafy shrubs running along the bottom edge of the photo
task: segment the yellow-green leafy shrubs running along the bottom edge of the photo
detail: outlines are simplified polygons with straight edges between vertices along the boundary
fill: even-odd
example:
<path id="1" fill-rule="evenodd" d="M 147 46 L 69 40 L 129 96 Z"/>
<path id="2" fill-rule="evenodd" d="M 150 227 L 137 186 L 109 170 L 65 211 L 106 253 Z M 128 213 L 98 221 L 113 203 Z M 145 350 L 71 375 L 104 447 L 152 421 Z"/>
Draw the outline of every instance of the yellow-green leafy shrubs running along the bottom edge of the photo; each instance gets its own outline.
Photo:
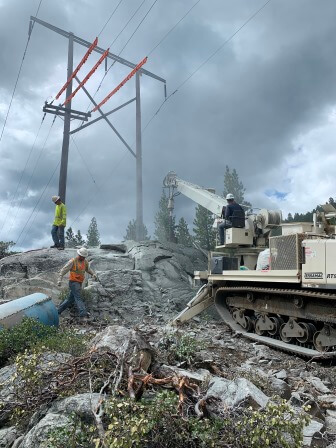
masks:
<path id="1" fill-rule="evenodd" d="M 182 418 L 177 406 L 177 395 L 167 391 L 141 402 L 111 398 L 104 405 L 104 443 L 93 426 L 73 416 L 71 425 L 49 432 L 43 448 L 301 448 L 309 422 L 284 401 L 202 420 Z"/>

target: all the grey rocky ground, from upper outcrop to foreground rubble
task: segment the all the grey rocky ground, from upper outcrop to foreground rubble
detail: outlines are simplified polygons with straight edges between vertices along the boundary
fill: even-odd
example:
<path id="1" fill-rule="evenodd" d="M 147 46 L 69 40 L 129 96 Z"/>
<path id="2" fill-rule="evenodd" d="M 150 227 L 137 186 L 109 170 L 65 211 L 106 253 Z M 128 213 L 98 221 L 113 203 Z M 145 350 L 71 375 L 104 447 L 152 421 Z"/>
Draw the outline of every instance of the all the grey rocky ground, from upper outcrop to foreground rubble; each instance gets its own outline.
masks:
<path id="1" fill-rule="evenodd" d="M 73 312 L 64 313 L 61 319 L 64 330 L 71 327 L 86 334 L 91 348 L 86 358 L 45 353 L 39 358 L 39 369 L 46 378 L 55 380 L 61 371 L 67 384 L 64 378 L 68 374 L 78 374 L 77 367 L 85 366 L 88 360 L 92 365 L 95 353 L 100 353 L 101 359 L 107 356 L 115 363 L 114 374 L 106 374 L 103 381 L 107 396 L 119 391 L 139 399 L 157 388 L 170 388 L 179 394 L 179 410 L 184 417 L 195 414 L 200 419 L 232 412 L 238 419 L 242 408 L 262 410 L 276 402 L 277 396 L 285 400 L 294 416 L 303 409 L 310 416 L 303 431 L 304 446 L 336 447 L 336 368 L 330 361 L 317 363 L 252 343 L 233 334 L 209 313 L 177 330 L 170 327 L 171 318 L 195 293 L 192 274 L 206 267 L 204 254 L 157 242 L 103 247 L 90 251 L 99 281 L 89 280 L 85 287 L 89 321 L 78 322 Z M 41 291 L 57 304 L 57 271 L 74 253 L 72 249 L 45 249 L 1 260 L 1 300 Z M 45 447 L 50 429 L 69 425 L 73 412 L 83 421 L 94 420 L 99 429 L 97 416 L 107 396 L 105 390 L 92 391 L 94 378 L 87 384 L 79 383 L 78 391 L 73 390 L 70 396 L 63 396 L 55 385 L 51 398 L 46 398 L 42 388 L 39 396 L 43 405 L 29 422 L 24 427 L 11 424 L 1 409 L 16 399 L 15 384 L 22 381 L 18 366 L 12 363 L 0 369 L 0 447 Z M 34 403 L 39 402 L 32 399 L 31 406 Z M 288 446 L 296 445 L 289 442 Z"/>

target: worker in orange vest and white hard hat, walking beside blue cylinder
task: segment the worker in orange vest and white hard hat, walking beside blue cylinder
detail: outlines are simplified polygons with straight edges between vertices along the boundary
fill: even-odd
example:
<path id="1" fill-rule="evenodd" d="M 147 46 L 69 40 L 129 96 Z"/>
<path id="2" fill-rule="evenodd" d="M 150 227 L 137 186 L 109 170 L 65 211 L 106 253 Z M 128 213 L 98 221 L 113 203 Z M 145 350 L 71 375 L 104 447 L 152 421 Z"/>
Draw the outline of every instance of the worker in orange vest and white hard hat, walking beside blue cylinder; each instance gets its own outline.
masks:
<path id="1" fill-rule="evenodd" d="M 72 258 L 68 263 L 60 270 L 57 286 L 61 286 L 63 276 L 70 271 L 69 276 L 69 296 L 58 307 L 58 314 L 63 313 L 66 308 L 72 305 L 76 305 L 79 311 L 80 317 L 87 317 L 88 313 L 85 309 L 84 302 L 82 300 L 81 291 L 82 283 L 85 278 L 85 272 L 93 276 L 94 280 L 97 280 L 96 273 L 89 267 L 89 263 L 86 260 L 89 253 L 85 247 L 81 247 L 77 250 L 78 256 Z"/>

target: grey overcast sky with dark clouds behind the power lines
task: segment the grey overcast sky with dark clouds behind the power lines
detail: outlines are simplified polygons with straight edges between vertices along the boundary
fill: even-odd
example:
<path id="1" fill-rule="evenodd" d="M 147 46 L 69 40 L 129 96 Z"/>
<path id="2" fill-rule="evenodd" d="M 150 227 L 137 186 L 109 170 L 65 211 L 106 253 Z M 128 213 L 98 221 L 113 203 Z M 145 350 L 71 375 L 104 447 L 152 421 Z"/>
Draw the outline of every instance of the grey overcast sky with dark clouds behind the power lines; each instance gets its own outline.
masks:
<path id="1" fill-rule="evenodd" d="M 42 0 L 38 17 L 93 41 L 119 2 Z M 138 63 L 195 2 L 158 0 L 121 56 Z M 167 80 L 168 94 L 174 92 L 265 2 L 201 0 L 150 54 L 145 68 Z M 29 18 L 38 4 L 0 0 L 0 129 L 27 42 Z M 119 54 L 153 0 L 122 0 L 99 36 L 101 47 L 111 45 L 141 4 L 110 48 Z M 336 195 L 335 19 L 334 0 L 272 0 L 165 103 L 142 135 L 144 221 L 151 235 L 162 180 L 170 170 L 221 194 L 229 165 L 237 169 L 247 200 L 255 207 L 282 209 L 284 215 L 311 210 Z M 19 238 L 19 248 L 50 242 L 61 119 L 51 127 L 53 116 L 48 114 L 33 144 L 44 101 L 53 99 L 66 80 L 67 45 L 63 36 L 35 25 L 0 142 L 0 240 Z M 75 44 L 75 66 L 85 51 Z M 80 79 L 98 58 L 90 56 Z M 115 64 L 96 99 L 103 99 L 129 71 Z M 87 83 L 91 94 L 103 75 L 104 64 Z M 143 128 L 162 103 L 163 93 L 161 82 L 141 77 Z M 103 110 L 134 94 L 135 78 Z M 88 98 L 79 92 L 72 107 L 86 111 L 88 106 Z M 135 103 L 110 118 L 134 148 Z M 72 129 L 77 125 L 72 121 Z M 104 121 L 74 134 L 74 141 L 69 152 L 68 226 L 85 234 L 95 216 L 101 240 L 120 241 L 135 218 L 135 160 Z M 192 227 L 195 204 L 178 197 L 175 206 L 177 218 L 184 216 Z"/>

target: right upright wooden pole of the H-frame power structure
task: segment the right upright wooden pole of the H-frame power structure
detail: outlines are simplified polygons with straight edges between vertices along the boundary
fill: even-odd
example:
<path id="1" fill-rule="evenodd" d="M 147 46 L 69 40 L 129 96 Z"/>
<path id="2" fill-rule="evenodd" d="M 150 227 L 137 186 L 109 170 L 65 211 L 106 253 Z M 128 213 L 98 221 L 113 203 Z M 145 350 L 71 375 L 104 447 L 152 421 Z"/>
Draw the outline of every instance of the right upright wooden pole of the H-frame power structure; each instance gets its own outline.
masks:
<path id="1" fill-rule="evenodd" d="M 141 241 L 143 235 L 143 197 L 142 197 L 142 142 L 141 142 L 141 103 L 140 103 L 140 73 L 135 75 L 136 104 L 136 239 Z"/>

